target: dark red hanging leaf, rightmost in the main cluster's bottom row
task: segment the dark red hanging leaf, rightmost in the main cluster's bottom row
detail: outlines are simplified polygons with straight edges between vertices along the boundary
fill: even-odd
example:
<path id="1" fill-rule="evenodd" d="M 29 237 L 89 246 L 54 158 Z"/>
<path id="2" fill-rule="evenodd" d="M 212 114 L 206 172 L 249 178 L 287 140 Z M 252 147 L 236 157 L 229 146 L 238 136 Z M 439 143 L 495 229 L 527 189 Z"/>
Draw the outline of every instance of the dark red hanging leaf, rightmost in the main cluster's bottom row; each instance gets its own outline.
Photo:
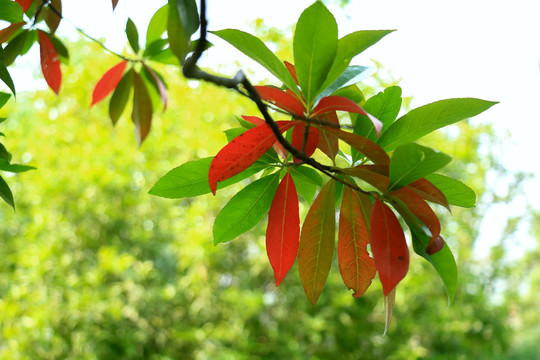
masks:
<path id="1" fill-rule="evenodd" d="M 385 296 L 409 270 L 409 248 L 399 220 L 379 198 L 371 213 L 371 251 Z"/>

